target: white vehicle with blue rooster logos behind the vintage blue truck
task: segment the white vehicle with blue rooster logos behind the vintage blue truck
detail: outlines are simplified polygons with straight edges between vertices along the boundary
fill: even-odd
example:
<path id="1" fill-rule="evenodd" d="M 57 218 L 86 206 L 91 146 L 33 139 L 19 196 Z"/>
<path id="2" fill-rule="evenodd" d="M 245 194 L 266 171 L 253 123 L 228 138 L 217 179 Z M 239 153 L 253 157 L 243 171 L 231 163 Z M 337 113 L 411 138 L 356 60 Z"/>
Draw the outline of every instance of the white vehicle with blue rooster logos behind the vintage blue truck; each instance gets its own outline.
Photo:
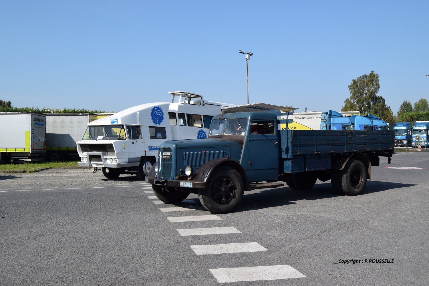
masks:
<path id="1" fill-rule="evenodd" d="M 77 149 L 79 166 L 102 170 L 106 178 L 136 174 L 144 180 L 166 140 L 207 137 L 211 118 L 233 104 L 204 100 L 202 95 L 169 92 L 169 102 L 137 105 L 88 123 Z"/>

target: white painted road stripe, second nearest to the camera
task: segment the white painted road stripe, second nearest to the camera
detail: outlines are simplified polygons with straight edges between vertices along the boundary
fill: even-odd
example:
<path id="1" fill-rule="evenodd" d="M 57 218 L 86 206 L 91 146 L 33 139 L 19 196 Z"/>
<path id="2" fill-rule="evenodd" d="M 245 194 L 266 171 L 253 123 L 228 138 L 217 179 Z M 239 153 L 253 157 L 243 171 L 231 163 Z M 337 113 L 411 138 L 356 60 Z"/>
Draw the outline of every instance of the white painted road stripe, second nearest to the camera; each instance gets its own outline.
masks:
<path id="1" fill-rule="evenodd" d="M 190 245 L 196 255 L 202 254 L 219 254 L 219 253 L 241 253 L 241 252 L 255 252 L 266 251 L 267 249 L 257 242 L 244 242 L 244 243 L 227 243 L 227 244 L 213 244 L 213 245 Z"/>

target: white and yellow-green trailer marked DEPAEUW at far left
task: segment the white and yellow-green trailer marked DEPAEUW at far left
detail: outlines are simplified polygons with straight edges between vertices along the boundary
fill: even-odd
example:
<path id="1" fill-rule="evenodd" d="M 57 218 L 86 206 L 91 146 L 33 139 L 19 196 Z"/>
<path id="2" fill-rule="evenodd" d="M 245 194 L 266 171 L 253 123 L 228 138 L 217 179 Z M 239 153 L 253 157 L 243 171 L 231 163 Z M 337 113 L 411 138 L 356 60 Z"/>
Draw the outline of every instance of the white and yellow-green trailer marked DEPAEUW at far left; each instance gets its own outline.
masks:
<path id="1" fill-rule="evenodd" d="M 0 163 L 45 160 L 46 118 L 35 112 L 0 112 Z"/>

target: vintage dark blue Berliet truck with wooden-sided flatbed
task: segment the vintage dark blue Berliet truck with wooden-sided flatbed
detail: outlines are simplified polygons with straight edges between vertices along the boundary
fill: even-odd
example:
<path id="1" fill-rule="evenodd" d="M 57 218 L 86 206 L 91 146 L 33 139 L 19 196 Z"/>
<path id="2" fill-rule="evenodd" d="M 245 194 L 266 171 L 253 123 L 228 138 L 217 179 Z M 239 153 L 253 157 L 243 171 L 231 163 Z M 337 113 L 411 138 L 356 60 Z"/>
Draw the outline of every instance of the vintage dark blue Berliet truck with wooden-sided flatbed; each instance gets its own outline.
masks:
<path id="1" fill-rule="evenodd" d="M 221 214 L 236 208 L 244 191 L 282 182 L 309 190 L 317 179 L 331 180 L 335 192 L 358 195 L 379 157 L 390 163 L 393 130 L 279 129 L 293 109 L 266 104 L 223 109 L 211 121 L 208 138 L 163 142 L 145 181 L 163 202 L 195 193 L 208 211 Z"/>

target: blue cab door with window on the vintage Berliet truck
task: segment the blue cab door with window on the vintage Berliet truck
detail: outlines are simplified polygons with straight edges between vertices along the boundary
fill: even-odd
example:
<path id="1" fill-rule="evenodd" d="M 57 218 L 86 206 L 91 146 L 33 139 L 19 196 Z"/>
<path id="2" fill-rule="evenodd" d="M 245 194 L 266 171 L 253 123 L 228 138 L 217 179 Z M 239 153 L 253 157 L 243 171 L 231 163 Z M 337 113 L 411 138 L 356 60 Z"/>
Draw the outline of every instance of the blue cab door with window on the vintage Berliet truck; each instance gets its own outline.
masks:
<path id="1" fill-rule="evenodd" d="M 248 137 L 248 180 L 278 178 L 279 142 L 276 120 L 253 120 Z"/>

